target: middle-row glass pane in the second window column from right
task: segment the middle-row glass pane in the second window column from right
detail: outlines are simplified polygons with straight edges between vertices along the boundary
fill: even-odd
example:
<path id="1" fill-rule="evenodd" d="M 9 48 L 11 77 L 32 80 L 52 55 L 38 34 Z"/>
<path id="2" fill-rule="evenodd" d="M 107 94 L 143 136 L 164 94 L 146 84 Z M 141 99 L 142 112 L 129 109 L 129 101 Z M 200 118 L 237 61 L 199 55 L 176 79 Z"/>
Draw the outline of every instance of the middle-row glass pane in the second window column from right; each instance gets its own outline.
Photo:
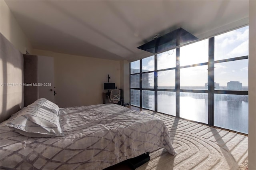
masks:
<path id="1" fill-rule="evenodd" d="M 180 69 L 180 89 L 207 90 L 208 65 Z"/>

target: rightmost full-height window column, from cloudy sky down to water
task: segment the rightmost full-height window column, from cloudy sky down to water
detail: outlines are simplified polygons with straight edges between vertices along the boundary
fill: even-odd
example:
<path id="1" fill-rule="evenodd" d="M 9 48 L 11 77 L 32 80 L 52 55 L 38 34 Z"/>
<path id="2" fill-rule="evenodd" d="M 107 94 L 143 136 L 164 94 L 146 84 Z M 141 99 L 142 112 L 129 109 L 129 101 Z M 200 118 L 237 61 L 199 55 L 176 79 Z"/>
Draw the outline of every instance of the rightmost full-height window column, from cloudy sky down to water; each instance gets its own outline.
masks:
<path id="1" fill-rule="evenodd" d="M 248 133 L 248 26 L 214 38 L 214 125 Z"/>

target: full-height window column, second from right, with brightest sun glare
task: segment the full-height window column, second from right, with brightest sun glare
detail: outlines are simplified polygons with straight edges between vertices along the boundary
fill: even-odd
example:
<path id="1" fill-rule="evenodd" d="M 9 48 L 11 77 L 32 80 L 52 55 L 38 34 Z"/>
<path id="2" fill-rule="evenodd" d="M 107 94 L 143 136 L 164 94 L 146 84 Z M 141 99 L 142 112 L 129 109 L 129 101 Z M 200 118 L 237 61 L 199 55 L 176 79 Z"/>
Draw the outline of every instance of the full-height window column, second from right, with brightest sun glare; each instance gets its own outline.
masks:
<path id="1" fill-rule="evenodd" d="M 207 39 L 180 48 L 180 117 L 207 124 L 208 44 Z"/>

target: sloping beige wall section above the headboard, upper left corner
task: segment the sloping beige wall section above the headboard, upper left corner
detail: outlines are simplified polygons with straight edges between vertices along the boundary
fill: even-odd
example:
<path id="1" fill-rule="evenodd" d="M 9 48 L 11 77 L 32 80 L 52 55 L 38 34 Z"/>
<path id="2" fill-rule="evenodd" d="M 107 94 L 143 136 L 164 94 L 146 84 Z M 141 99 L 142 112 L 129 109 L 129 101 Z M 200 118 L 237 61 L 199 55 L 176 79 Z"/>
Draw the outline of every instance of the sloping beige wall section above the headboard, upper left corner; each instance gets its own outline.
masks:
<path id="1" fill-rule="evenodd" d="M 20 25 L 12 15 L 4 0 L 0 0 L 0 32 L 9 40 L 21 53 L 32 51 L 32 45 L 20 28 Z"/>

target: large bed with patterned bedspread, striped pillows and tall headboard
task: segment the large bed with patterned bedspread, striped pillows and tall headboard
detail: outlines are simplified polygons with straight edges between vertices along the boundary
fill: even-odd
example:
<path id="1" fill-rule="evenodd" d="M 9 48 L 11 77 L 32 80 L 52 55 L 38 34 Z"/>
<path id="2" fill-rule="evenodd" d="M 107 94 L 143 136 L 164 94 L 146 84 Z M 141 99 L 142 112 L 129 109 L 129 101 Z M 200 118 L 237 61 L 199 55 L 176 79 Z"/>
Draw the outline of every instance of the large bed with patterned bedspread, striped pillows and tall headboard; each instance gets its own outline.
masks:
<path id="1" fill-rule="evenodd" d="M 159 147 L 176 154 L 168 129 L 152 115 L 116 104 L 59 108 L 38 99 L 38 89 L 21 86 L 32 78 L 24 70 L 28 61 L 2 34 L 0 40 L 1 169 L 96 170 Z"/>

